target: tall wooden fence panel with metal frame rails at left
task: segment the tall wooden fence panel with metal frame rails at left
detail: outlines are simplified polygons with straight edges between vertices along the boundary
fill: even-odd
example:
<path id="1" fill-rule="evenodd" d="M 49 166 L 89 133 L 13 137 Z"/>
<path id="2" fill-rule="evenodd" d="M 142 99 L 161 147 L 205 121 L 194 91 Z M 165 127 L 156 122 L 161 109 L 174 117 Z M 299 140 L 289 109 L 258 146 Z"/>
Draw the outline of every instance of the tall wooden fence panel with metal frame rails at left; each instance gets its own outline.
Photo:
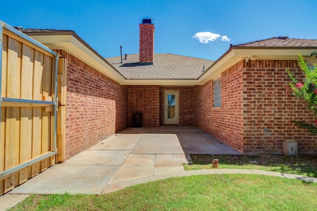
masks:
<path id="1" fill-rule="evenodd" d="M 2 195 L 55 164 L 58 54 L 0 24 Z"/>

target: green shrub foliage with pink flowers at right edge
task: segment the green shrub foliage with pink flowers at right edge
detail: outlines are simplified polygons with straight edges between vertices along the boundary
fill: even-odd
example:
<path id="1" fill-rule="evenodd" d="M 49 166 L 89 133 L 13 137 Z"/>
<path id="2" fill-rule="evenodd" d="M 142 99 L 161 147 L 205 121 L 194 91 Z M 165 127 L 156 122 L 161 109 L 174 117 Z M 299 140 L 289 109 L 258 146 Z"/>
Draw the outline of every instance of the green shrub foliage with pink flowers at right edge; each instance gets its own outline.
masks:
<path id="1" fill-rule="evenodd" d="M 288 75 L 292 80 L 292 82 L 289 83 L 288 90 L 297 98 L 305 101 L 307 103 L 307 108 L 314 111 L 316 117 L 315 123 L 317 124 L 317 64 L 308 65 L 304 56 L 301 54 L 298 54 L 298 56 L 298 65 L 302 69 L 305 79 L 303 82 L 299 82 L 289 69 L 287 69 Z M 299 127 L 305 128 L 317 135 L 317 126 L 299 121 L 295 121 L 295 123 Z"/>

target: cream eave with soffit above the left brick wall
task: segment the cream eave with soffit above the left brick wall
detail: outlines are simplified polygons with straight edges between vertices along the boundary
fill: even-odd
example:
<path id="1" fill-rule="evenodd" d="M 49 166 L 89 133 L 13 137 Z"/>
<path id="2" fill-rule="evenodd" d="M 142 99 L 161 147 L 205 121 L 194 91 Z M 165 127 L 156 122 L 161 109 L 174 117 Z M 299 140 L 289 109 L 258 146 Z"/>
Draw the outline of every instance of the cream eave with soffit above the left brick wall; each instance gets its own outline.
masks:
<path id="1" fill-rule="evenodd" d="M 119 84 L 125 80 L 115 69 L 72 35 L 31 35 L 30 37 L 52 50 L 65 50 L 73 54 Z"/>

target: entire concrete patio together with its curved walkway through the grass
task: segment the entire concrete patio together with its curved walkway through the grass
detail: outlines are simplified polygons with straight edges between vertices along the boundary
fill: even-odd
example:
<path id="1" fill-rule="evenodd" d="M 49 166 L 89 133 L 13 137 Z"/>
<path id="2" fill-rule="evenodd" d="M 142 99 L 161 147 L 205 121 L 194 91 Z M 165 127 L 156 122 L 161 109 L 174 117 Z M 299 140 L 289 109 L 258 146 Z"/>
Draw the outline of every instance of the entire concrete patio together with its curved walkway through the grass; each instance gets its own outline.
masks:
<path id="1" fill-rule="evenodd" d="M 197 174 L 264 174 L 317 182 L 316 178 L 246 169 L 184 171 L 189 154 L 240 155 L 193 126 L 127 128 L 56 164 L 0 197 L 5 210 L 29 194 L 104 194 L 131 185 Z"/>

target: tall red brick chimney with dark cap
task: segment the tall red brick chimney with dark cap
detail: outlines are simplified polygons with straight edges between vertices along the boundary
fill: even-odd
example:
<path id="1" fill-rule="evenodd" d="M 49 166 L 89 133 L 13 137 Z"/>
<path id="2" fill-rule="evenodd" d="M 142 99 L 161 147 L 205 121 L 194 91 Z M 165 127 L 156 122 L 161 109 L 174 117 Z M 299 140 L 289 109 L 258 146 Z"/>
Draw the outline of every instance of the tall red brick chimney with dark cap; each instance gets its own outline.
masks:
<path id="1" fill-rule="evenodd" d="M 140 27 L 139 64 L 147 65 L 154 62 L 154 24 L 151 19 L 143 19 Z"/>

